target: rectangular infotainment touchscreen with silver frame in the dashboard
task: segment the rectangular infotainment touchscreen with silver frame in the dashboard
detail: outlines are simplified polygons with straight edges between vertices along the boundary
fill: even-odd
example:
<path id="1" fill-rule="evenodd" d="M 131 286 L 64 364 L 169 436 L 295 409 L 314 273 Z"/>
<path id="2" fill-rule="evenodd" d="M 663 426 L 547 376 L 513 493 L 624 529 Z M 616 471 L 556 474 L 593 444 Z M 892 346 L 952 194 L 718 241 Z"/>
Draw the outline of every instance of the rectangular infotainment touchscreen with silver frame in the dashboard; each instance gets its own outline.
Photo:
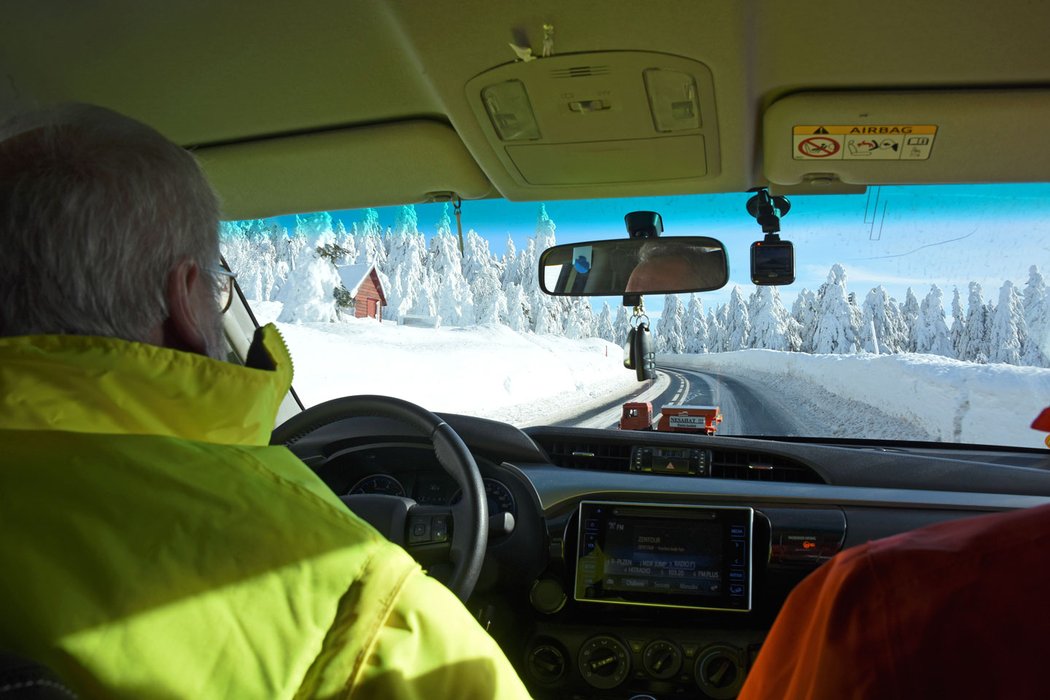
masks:
<path id="1" fill-rule="evenodd" d="M 585 501 L 575 599 L 751 610 L 754 510 Z"/>

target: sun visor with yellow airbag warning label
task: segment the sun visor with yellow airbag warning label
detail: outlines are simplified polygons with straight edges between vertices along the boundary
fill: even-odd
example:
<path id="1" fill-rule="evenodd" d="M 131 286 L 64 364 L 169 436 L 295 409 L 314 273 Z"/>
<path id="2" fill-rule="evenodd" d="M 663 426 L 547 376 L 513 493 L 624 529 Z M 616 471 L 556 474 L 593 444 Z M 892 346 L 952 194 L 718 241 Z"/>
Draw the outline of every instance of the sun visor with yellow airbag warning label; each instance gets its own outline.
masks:
<path id="1" fill-rule="evenodd" d="M 784 191 L 1046 182 L 1050 90 L 803 92 L 763 118 L 764 173 Z"/>

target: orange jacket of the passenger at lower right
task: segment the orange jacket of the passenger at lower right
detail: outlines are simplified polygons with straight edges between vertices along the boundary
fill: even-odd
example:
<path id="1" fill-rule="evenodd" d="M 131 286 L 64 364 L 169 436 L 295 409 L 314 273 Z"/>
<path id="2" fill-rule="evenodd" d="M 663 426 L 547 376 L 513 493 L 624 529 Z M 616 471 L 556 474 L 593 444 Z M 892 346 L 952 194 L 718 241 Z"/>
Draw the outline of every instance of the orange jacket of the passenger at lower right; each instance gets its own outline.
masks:
<path id="1" fill-rule="evenodd" d="M 1050 696 L 1050 506 L 842 552 L 792 592 L 740 700 Z"/>

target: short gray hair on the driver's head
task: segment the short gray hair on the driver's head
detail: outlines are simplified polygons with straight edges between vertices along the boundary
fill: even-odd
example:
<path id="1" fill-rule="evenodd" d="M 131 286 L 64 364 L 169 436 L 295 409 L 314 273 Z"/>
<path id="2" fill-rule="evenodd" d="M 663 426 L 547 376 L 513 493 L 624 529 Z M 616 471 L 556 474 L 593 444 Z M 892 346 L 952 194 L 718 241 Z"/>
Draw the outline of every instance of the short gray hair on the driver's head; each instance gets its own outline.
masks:
<path id="1" fill-rule="evenodd" d="M 218 261 L 218 200 L 150 127 L 67 105 L 0 125 L 0 336 L 142 341 L 170 272 Z"/>

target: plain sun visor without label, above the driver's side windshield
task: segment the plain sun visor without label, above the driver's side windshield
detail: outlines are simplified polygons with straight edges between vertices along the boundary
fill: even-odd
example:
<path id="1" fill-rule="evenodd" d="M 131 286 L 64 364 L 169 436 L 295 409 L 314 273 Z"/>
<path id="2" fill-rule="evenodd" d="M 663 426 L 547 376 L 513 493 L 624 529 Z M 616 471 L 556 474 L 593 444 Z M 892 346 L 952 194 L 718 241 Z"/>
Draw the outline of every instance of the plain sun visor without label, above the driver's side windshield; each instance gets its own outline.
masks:
<path id="1" fill-rule="evenodd" d="M 456 131 L 413 120 L 195 151 L 224 218 L 464 199 L 496 192 Z M 411 168 L 392 164 L 412 163 Z"/>

